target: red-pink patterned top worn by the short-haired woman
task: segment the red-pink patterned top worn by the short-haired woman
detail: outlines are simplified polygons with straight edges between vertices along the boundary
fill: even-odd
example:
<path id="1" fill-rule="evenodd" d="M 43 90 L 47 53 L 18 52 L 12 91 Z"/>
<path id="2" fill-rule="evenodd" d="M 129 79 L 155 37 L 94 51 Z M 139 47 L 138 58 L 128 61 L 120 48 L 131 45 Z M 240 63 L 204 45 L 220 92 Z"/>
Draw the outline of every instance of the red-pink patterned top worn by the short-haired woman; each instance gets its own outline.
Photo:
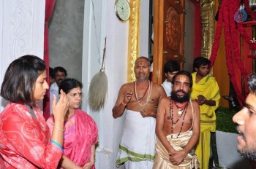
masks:
<path id="1" fill-rule="evenodd" d="M 37 119 L 23 104 L 8 103 L 0 114 L 0 168 L 57 168 L 61 149 L 50 142 L 50 131 L 39 106 Z"/>

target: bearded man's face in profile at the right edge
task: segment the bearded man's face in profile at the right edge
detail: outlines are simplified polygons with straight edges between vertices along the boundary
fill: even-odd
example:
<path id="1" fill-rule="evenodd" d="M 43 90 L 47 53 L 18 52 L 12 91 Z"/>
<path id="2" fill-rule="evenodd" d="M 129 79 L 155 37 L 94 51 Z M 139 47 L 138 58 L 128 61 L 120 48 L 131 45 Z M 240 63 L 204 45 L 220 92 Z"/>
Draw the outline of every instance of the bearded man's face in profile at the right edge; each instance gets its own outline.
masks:
<path id="1" fill-rule="evenodd" d="M 256 74 L 248 80 L 249 95 L 245 106 L 233 116 L 233 122 L 238 124 L 238 152 L 250 160 L 256 161 Z"/>

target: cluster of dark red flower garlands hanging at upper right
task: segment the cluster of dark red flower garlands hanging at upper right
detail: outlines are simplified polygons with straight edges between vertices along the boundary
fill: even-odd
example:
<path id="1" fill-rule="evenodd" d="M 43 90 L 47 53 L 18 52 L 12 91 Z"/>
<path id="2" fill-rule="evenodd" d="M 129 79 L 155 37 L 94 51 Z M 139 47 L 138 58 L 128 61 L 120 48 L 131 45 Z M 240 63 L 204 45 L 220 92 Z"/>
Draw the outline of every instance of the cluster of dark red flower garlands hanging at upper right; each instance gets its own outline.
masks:
<path id="1" fill-rule="evenodd" d="M 225 48 L 228 74 L 230 75 L 230 81 L 233 84 L 238 99 L 244 103 L 244 95 L 241 94 L 236 83 L 236 75 L 233 68 L 233 55 L 235 57 L 236 63 L 238 64 L 238 68 L 241 71 L 241 75 L 244 77 L 245 81 L 247 80 L 249 74 L 246 72 L 246 69 L 244 68 L 244 64 L 240 57 L 241 53 L 239 50 L 240 47 L 237 38 L 237 31 L 239 31 L 240 35 L 243 36 L 247 43 L 249 43 L 250 50 L 256 50 L 256 41 L 255 39 L 251 40 L 250 37 L 246 34 L 242 23 L 235 23 L 234 15 L 239 9 L 240 3 L 240 0 L 232 1 L 232 3 L 230 3 L 229 0 L 222 1 L 222 5 L 219 8 L 219 20 L 217 22 L 216 35 L 214 37 L 214 45 L 212 47 L 210 60 L 211 66 L 214 65 L 214 61 L 217 57 L 217 50 L 219 47 L 219 40 L 223 25 L 225 33 Z M 255 19 L 256 15 L 249 8 L 249 1 L 244 1 L 244 6 L 246 8 L 246 11 L 249 12 L 253 19 Z M 249 57 L 254 58 L 255 55 L 249 55 Z"/>

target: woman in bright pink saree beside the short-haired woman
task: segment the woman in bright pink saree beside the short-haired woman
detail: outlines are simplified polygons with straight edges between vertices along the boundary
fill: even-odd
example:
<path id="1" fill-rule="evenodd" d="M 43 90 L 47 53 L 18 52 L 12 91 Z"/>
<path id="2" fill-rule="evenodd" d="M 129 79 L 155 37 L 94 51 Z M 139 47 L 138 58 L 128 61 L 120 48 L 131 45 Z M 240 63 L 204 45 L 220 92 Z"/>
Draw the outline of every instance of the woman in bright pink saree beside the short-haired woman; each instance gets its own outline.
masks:
<path id="1" fill-rule="evenodd" d="M 76 79 L 64 79 L 59 85 L 59 91 L 66 93 L 69 109 L 64 121 L 64 155 L 59 162 L 59 168 L 95 168 L 95 144 L 98 141 L 97 125 L 85 111 L 79 108 L 82 101 L 82 84 Z M 47 120 L 53 128 L 54 118 Z"/>

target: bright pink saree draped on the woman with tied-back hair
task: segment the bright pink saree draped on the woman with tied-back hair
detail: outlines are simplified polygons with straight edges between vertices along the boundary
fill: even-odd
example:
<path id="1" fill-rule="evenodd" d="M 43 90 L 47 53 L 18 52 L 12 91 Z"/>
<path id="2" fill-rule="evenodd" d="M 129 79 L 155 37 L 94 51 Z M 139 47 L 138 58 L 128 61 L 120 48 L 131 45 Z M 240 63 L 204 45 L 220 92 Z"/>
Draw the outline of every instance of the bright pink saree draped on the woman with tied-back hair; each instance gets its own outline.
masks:
<path id="1" fill-rule="evenodd" d="M 53 115 L 47 120 L 47 124 L 52 132 Z M 76 109 L 72 117 L 64 122 L 64 128 L 64 155 L 75 162 L 76 165 L 83 167 L 90 161 L 91 146 L 97 144 L 97 125 L 86 112 Z"/>

